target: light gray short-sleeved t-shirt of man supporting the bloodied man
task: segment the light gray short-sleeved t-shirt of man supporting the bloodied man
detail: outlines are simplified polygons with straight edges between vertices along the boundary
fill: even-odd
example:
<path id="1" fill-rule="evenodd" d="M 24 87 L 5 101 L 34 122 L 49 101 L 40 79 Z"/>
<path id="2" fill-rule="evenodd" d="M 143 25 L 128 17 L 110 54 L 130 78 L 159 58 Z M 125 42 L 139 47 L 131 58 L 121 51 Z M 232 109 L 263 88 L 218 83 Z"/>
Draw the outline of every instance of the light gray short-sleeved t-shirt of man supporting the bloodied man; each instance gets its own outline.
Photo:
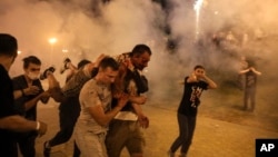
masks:
<path id="1" fill-rule="evenodd" d="M 111 88 L 110 86 L 99 84 L 95 79 L 90 79 L 82 87 L 79 101 L 81 106 L 80 117 L 77 127 L 87 129 L 95 134 L 106 133 L 108 126 L 100 126 L 90 115 L 89 108 L 93 106 L 102 106 L 105 112 L 111 109 Z"/>

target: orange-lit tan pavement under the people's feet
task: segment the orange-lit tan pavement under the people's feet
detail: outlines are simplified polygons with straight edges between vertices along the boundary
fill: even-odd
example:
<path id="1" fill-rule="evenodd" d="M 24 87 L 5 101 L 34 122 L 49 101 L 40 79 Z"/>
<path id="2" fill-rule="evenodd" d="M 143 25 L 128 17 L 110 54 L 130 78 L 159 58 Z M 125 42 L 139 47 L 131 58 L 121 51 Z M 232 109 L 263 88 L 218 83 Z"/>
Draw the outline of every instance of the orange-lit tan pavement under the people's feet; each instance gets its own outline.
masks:
<path id="1" fill-rule="evenodd" d="M 177 102 L 172 102 L 177 104 Z M 53 137 L 59 129 L 59 104 L 50 101 L 38 106 L 38 119 L 49 125 L 48 133 L 37 139 L 37 157 L 43 157 L 43 141 Z M 143 106 L 150 119 L 150 127 L 143 130 L 146 137 L 145 157 L 167 157 L 167 150 L 178 136 L 176 118 L 177 105 L 157 105 L 149 102 Z M 256 138 L 277 138 L 278 131 L 257 126 L 242 125 L 219 120 L 199 114 L 189 157 L 255 157 Z M 71 157 L 72 139 L 52 149 L 51 157 Z M 177 156 L 179 153 L 177 153 Z M 121 157 L 128 157 L 127 150 Z"/>

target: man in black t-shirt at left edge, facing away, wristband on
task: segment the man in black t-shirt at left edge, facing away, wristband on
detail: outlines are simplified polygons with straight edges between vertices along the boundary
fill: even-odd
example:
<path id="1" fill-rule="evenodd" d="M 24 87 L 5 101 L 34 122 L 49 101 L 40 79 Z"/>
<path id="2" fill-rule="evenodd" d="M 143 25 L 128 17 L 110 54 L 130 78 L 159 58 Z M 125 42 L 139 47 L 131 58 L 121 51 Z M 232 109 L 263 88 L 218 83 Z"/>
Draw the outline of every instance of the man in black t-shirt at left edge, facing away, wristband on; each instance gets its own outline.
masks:
<path id="1" fill-rule="evenodd" d="M 17 39 L 8 33 L 0 33 L 0 156 L 17 157 L 14 131 L 37 130 L 44 135 L 47 125 L 41 121 L 27 120 L 14 111 L 13 88 L 9 69 L 18 52 Z"/>

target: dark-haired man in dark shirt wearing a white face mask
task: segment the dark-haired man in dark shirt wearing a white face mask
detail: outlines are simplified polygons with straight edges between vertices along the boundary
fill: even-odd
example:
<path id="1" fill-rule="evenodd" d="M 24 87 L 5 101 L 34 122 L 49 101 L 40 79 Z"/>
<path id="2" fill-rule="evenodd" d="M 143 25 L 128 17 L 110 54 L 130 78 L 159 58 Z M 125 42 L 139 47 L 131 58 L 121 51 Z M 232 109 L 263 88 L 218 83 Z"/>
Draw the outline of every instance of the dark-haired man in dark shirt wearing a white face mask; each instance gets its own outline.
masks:
<path id="1" fill-rule="evenodd" d="M 36 56 L 23 58 L 24 73 L 12 79 L 16 109 L 29 120 L 37 119 L 37 104 L 47 104 L 49 92 L 44 91 L 39 80 L 41 61 Z M 18 134 L 17 141 L 23 157 L 34 157 L 36 131 Z"/>

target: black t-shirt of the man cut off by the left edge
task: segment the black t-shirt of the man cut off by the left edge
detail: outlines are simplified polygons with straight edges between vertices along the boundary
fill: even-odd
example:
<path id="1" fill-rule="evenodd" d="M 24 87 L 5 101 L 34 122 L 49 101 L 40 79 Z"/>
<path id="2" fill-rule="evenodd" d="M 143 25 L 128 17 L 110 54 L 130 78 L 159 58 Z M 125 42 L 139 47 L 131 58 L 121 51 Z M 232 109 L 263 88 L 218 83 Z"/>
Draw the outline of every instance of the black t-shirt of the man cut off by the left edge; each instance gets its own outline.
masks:
<path id="1" fill-rule="evenodd" d="M 17 115 L 13 109 L 12 81 L 0 65 L 0 118 Z M 12 131 L 0 129 L 0 156 L 17 157 L 17 145 Z"/>

